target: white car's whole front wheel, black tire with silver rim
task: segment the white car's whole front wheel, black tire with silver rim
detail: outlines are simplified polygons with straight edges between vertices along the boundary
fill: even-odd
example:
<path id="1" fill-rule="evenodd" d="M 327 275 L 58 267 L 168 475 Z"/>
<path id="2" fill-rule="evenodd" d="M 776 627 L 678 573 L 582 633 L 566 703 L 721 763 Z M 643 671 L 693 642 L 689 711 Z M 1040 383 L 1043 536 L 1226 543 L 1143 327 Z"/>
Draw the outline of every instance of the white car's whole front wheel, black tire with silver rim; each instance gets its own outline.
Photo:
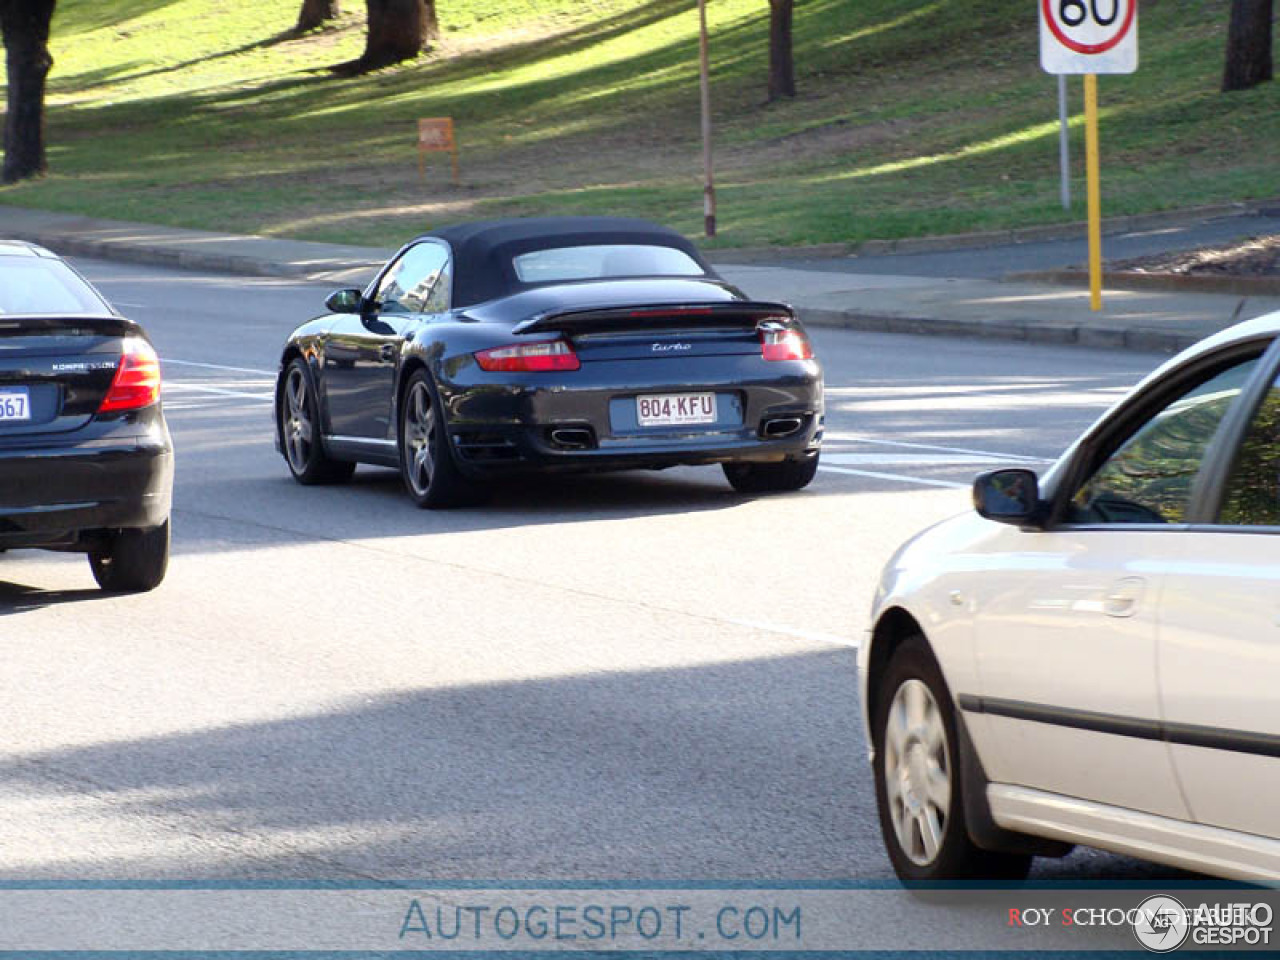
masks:
<path id="1" fill-rule="evenodd" d="M 899 879 L 1027 877 L 1030 856 L 982 850 L 969 838 L 955 708 L 923 636 L 908 637 L 890 659 L 872 731 L 881 835 Z"/>

